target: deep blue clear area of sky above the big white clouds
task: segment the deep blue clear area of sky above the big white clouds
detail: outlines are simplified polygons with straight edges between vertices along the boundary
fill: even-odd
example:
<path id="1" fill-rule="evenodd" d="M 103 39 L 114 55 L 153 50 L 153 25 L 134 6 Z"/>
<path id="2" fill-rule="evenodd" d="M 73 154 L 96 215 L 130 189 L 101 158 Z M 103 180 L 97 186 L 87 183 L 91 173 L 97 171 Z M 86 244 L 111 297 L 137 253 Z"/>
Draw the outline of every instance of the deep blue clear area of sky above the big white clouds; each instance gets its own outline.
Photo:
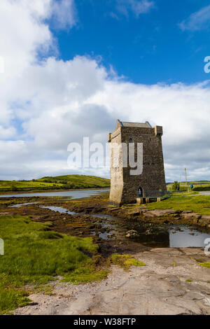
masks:
<path id="1" fill-rule="evenodd" d="M 203 67 L 210 53 L 210 25 L 193 31 L 179 25 L 209 4 L 155 0 L 147 13 L 137 16 L 129 6 L 121 13 L 115 0 L 78 0 L 77 25 L 53 33 L 64 60 L 102 56 L 105 66 L 134 83 L 195 83 L 207 78 Z"/>

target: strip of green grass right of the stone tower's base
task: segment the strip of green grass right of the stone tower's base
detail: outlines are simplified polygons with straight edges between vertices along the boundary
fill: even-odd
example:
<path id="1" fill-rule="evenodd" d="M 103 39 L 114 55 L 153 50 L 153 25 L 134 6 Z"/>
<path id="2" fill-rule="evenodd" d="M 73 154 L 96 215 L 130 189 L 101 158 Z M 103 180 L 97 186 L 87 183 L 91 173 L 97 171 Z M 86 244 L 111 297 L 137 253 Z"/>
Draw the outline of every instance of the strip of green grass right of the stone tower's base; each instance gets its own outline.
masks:
<path id="1" fill-rule="evenodd" d="M 193 195 L 185 197 L 176 193 L 161 202 L 151 202 L 147 204 L 148 209 L 174 209 L 174 210 L 190 210 L 201 215 L 210 215 L 210 196 Z"/>

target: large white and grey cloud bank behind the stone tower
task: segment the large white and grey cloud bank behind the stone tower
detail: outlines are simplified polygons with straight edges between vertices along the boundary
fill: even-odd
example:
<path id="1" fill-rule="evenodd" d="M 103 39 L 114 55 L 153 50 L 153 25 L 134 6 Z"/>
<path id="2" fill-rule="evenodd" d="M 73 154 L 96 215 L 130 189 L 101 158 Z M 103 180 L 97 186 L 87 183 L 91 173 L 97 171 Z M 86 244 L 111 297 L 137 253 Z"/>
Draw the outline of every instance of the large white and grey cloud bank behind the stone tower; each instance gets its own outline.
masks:
<path id="1" fill-rule="evenodd" d="M 168 181 L 180 174 L 183 179 L 185 167 L 190 179 L 209 179 L 208 81 L 141 85 L 118 78 L 90 57 L 38 59 L 40 49 L 54 43 L 48 23 L 52 1 L 29 3 L 0 2 L 0 55 L 6 59 L 0 73 L 1 179 L 109 176 L 106 168 L 70 169 L 66 150 L 83 137 L 105 144 L 117 118 L 163 125 Z"/>

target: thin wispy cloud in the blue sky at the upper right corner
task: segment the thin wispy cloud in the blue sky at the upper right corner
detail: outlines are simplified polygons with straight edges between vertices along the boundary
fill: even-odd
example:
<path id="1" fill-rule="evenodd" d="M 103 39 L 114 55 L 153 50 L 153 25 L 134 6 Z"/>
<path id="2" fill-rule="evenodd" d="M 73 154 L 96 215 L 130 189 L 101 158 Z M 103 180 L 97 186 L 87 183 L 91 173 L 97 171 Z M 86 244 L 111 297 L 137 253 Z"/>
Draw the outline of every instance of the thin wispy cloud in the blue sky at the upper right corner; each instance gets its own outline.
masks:
<path id="1" fill-rule="evenodd" d="M 183 20 L 179 27 L 185 31 L 197 31 L 206 29 L 210 23 L 210 6 L 201 8 L 197 12 L 191 14 L 186 20 Z"/>

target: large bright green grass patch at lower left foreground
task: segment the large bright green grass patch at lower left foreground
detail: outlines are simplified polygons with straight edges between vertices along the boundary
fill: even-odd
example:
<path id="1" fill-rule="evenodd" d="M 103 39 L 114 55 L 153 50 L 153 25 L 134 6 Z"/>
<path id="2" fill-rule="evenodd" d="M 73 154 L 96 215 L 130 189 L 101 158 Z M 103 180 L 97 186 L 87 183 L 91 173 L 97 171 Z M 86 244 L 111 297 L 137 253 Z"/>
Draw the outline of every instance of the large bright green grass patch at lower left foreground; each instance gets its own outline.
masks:
<path id="1" fill-rule="evenodd" d="M 22 216 L 1 216 L 0 237 L 5 255 L 0 255 L 0 314 L 29 301 L 25 285 L 43 285 L 63 276 L 72 283 L 103 279 L 94 259 L 92 238 L 80 239 L 49 230 L 48 225 Z"/>

